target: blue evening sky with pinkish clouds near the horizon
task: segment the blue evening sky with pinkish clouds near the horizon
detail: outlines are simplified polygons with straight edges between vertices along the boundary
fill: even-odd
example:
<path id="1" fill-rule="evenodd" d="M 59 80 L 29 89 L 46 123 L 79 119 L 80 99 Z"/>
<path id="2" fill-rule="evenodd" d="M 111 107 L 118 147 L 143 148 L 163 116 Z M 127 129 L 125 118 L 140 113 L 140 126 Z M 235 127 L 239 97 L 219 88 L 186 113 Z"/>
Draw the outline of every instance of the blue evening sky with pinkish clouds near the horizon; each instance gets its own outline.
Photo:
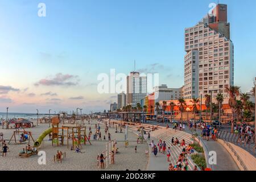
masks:
<path id="1" fill-rule="evenodd" d="M 117 93 L 100 94 L 98 75 L 159 73 L 159 84 L 184 83 L 184 29 L 213 0 L 0 0 L 0 111 L 83 113 L 108 110 Z M 45 3 L 46 17 L 38 16 Z M 249 92 L 256 76 L 255 0 L 228 5 L 234 84 Z"/>

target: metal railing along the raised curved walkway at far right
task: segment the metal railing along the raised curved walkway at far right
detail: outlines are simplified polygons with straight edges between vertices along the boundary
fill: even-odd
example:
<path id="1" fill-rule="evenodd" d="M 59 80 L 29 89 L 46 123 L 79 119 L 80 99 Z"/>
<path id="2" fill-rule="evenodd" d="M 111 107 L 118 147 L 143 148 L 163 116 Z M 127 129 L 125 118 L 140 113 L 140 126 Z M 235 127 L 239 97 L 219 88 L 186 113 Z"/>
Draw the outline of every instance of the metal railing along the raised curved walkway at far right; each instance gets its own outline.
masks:
<path id="1" fill-rule="evenodd" d="M 226 142 L 236 144 L 237 146 L 250 152 L 256 157 L 255 152 L 255 134 L 247 133 L 231 133 L 230 131 L 219 130 L 217 138 L 223 139 Z"/>

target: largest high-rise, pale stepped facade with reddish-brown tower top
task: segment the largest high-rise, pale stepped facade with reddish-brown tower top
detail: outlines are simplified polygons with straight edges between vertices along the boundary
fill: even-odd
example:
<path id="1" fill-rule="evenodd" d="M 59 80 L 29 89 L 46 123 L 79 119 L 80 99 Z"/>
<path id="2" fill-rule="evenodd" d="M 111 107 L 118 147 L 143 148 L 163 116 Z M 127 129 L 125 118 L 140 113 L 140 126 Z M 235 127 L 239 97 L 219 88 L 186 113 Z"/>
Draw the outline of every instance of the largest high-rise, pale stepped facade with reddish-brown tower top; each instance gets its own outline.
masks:
<path id="1" fill-rule="evenodd" d="M 223 93 L 234 84 L 234 46 L 230 40 L 227 5 L 218 4 L 212 14 L 194 27 L 185 28 L 184 98 Z"/>

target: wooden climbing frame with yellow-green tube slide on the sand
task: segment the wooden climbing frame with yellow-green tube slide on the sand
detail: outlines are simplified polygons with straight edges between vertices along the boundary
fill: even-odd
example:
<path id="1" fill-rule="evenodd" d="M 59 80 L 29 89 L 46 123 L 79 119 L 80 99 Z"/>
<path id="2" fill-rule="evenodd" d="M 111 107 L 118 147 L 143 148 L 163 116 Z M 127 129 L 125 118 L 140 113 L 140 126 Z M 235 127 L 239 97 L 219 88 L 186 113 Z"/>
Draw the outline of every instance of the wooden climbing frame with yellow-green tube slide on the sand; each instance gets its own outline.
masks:
<path id="1" fill-rule="evenodd" d="M 52 133 L 52 146 L 53 145 L 64 145 L 64 140 L 67 140 L 67 146 L 69 148 L 69 140 L 72 140 L 72 147 L 75 146 L 82 147 L 81 144 L 86 144 L 86 141 L 90 143 L 90 140 L 86 136 L 86 127 L 82 126 L 62 126 L 59 127 L 60 119 L 57 117 L 52 118 L 52 128 L 44 131 L 36 142 L 34 143 L 35 147 L 39 147 L 43 139 Z M 91 143 L 90 143 L 91 144 Z"/>

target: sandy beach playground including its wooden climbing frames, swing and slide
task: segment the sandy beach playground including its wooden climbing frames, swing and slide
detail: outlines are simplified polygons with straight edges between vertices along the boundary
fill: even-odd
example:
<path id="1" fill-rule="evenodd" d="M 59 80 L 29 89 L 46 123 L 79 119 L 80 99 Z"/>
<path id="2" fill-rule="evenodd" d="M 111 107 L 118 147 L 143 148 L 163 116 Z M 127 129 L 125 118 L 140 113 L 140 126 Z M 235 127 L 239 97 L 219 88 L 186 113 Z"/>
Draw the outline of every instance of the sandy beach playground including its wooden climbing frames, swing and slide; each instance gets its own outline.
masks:
<path id="1" fill-rule="evenodd" d="M 35 124 L 36 120 L 33 122 Z M 96 132 L 95 125 L 98 126 L 98 123 L 100 123 L 102 140 L 93 140 L 93 134 Z M 85 121 L 83 126 L 72 125 L 71 123 L 56 125 L 54 122 L 53 125 L 54 127 L 52 125 L 49 127 L 48 123 L 40 123 L 39 126 L 20 130 L 19 133 L 15 129 L 0 129 L 0 133 L 3 133 L 3 139 L 6 140 L 9 147 L 7 156 L 1 156 L 0 170 L 102 170 L 97 165 L 97 156 L 106 151 L 106 143 L 109 143 L 108 134 L 105 134 L 105 123 L 93 120 L 90 123 Z M 90 142 L 88 140 L 89 127 L 92 130 Z M 118 152 L 114 155 L 115 164 L 108 164 L 108 168 L 104 170 L 146 169 L 148 156 L 145 155 L 145 151 L 148 150 L 147 144 L 138 146 L 137 135 L 129 131 L 129 144 L 125 147 L 125 129 L 122 133 L 119 132 L 119 127 L 118 133 L 115 131 L 115 126 L 109 128 L 111 140 L 115 140 L 118 147 Z M 26 134 L 27 139 L 19 142 L 22 134 Z M 23 157 L 28 150 L 28 142 L 31 146 L 28 152 L 30 155 Z M 34 147 L 35 144 L 38 146 Z M 81 153 L 76 152 L 76 146 L 79 146 Z M 137 146 L 136 154 L 134 152 L 135 146 Z M 46 152 L 46 165 L 38 164 L 40 156 L 37 155 L 37 152 L 39 151 Z M 61 161 L 58 161 L 57 155 L 60 151 L 62 153 L 60 154 Z"/>

